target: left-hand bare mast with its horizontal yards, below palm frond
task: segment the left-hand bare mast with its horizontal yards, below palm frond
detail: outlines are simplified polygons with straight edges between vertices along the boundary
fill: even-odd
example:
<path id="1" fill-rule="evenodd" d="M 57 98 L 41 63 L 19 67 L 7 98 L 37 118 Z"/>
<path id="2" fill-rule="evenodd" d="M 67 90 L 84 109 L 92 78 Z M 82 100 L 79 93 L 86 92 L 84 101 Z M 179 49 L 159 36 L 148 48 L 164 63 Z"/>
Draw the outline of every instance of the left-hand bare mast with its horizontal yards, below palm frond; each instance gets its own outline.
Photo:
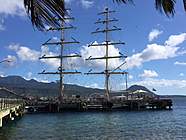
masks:
<path id="1" fill-rule="evenodd" d="M 60 36 L 60 41 L 51 41 L 51 39 L 49 39 L 48 41 L 46 41 L 45 43 L 43 43 L 43 46 L 57 46 L 60 45 L 60 54 L 58 56 L 46 56 L 43 55 L 42 57 L 40 57 L 39 59 L 59 59 L 60 60 L 60 65 L 58 67 L 57 72 L 45 72 L 45 70 L 39 74 L 51 74 L 51 75 L 59 75 L 60 77 L 60 86 L 59 86 L 59 99 L 60 101 L 63 100 L 64 98 L 64 75 L 67 74 L 81 74 L 81 72 L 78 71 L 66 71 L 64 68 L 64 63 L 63 60 L 64 59 L 68 59 L 68 58 L 72 58 L 72 57 L 81 57 L 80 55 L 76 54 L 76 55 L 64 55 L 64 47 L 66 47 L 66 45 L 69 44 L 78 44 L 80 43 L 79 41 L 77 41 L 76 39 L 72 38 L 72 41 L 66 41 L 65 39 L 65 31 L 66 30 L 70 30 L 70 29 L 76 29 L 74 26 L 72 25 L 67 25 L 66 26 L 66 21 L 69 20 L 74 20 L 74 18 L 68 16 L 65 17 L 63 19 L 56 19 L 54 18 L 53 20 L 60 20 L 61 21 L 61 27 L 51 27 L 49 28 L 47 31 L 58 31 L 60 32 L 61 36 Z"/>

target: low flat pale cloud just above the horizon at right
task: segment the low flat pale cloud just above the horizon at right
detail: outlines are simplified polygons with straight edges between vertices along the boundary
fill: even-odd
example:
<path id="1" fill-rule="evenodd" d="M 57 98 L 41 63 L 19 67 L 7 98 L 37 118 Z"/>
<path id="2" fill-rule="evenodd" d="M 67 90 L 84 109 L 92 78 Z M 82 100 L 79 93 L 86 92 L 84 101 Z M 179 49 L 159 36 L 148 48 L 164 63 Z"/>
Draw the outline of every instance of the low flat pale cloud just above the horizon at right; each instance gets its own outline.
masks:
<path id="1" fill-rule="evenodd" d="M 143 81 L 138 81 L 133 84 L 148 86 L 148 87 L 177 87 L 186 88 L 186 80 L 169 80 L 169 79 L 145 79 Z"/>

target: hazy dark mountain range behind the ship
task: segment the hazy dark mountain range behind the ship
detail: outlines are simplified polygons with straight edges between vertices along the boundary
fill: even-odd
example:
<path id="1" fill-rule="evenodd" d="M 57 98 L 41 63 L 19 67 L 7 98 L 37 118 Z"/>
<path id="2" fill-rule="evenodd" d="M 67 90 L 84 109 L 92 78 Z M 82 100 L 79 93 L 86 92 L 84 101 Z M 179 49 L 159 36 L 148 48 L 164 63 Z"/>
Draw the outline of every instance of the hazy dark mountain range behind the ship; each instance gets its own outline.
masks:
<path id="1" fill-rule="evenodd" d="M 9 90 L 14 91 L 18 95 L 26 96 L 58 96 L 59 95 L 59 84 L 55 82 L 42 83 L 34 79 L 26 80 L 20 76 L 7 76 L 0 77 L 0 87 L 6 87 Z M 127 89 L 128 91 L 144 90 L 147 94 L 152 96 L 155 95 L 153 92 L 148 90 L 146 87 L 133 85 Z M 64 92 L 66 95 L 80 95 L 89 96 L 90 94 L 98 93 L 104 94 L 103 89 L 87 88 L 78 85 L 65 84 Z M 2 94 L 2 91 L 0 91 Z M 124 91 L 112 92 L 112 95 L 121 95 Z"/>

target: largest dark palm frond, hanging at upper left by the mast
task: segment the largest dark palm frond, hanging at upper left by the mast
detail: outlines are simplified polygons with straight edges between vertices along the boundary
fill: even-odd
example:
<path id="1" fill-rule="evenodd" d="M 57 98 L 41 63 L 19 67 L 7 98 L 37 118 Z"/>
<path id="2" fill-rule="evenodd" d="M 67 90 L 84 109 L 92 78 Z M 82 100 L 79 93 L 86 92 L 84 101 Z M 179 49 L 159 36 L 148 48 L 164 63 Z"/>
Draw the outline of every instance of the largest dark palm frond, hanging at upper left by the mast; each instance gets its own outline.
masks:
<path id="1" fill-rule="evenodd" d="M 33 26 L 44 30 L 45 26 L 59 26 L 66 14 L 64 0 L 24 0 L 24 6 Z"/>

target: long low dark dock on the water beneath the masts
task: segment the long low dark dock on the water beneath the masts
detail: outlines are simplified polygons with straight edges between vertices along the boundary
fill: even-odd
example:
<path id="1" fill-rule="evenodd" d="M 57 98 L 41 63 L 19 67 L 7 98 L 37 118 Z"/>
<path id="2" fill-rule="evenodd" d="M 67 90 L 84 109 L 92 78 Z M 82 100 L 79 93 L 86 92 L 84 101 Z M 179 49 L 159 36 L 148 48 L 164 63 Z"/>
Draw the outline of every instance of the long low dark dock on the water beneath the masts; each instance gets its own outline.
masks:
<path id="1" fill-rule="evenodd" d="M 37 102 L 27 105 L 27 111 L 34 112 L 63 112 L 63 111 L 115 111 L 115 110 L 171 110 L 171 99 L 142 99 L 142 100 L 64 100 L 63 102 Z"/>

